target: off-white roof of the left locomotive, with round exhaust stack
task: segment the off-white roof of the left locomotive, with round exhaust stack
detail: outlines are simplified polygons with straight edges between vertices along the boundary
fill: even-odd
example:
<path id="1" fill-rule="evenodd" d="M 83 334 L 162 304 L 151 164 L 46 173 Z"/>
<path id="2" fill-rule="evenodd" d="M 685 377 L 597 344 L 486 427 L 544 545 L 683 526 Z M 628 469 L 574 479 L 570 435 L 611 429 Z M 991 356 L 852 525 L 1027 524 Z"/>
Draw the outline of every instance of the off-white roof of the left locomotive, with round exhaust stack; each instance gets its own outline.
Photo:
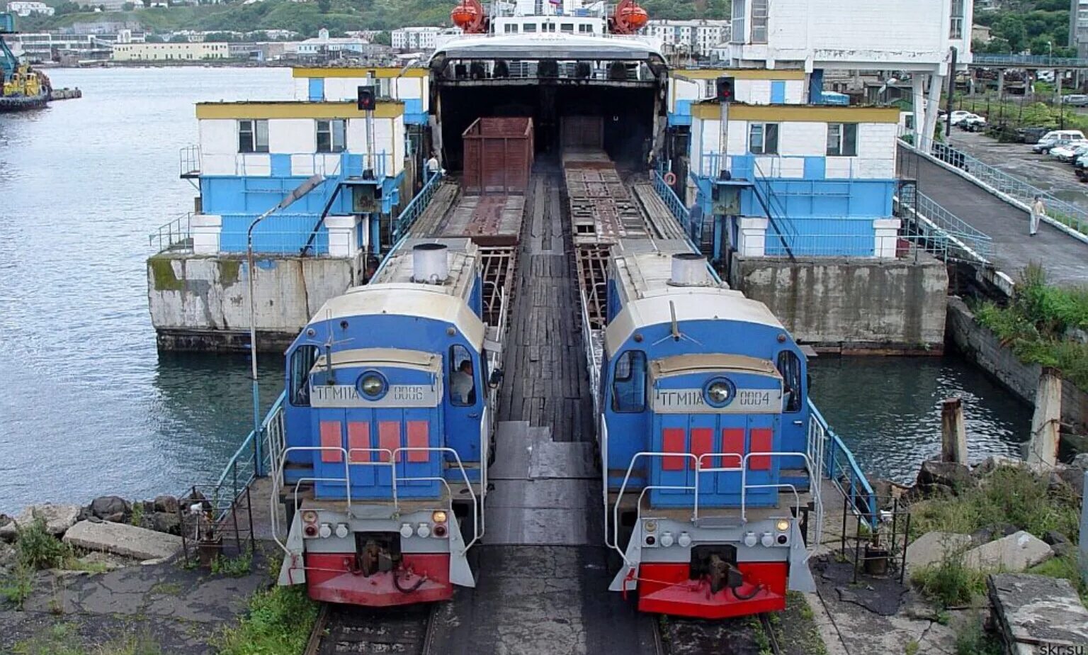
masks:
<path id="1" fill-rule="evenodd" d="M 442 243 L 449 248 L 449 275 L 442 284 L 412 282 L 412 246 Z M 479 265 L 477 246 L 468 239 L 408 239 L 388 256 L 370 284 L 330 298 L 309 325 L 354 316 L 406 316 L 453 323 L 477 348 L 483 347 L 484 324 L 469 307 Z"/>

